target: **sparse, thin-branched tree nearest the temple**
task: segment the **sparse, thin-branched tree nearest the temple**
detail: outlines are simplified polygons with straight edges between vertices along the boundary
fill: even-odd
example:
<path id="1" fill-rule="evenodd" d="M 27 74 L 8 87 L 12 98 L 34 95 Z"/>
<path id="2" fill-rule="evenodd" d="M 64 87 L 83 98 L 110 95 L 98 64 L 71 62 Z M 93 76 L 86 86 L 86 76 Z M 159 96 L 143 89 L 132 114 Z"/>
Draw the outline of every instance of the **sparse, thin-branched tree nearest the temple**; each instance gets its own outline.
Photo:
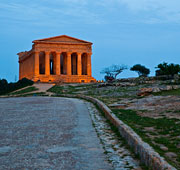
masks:
<path id="1" fill-rule="evenodd" d="M 101 74 L 105 74 L 105 80 L 113 80 L 116 79 L 117 76 L 123 71 L 127 69 L 125 65 L 112 65 L 110 67 L 106 67 L 101 71 Z"/>

